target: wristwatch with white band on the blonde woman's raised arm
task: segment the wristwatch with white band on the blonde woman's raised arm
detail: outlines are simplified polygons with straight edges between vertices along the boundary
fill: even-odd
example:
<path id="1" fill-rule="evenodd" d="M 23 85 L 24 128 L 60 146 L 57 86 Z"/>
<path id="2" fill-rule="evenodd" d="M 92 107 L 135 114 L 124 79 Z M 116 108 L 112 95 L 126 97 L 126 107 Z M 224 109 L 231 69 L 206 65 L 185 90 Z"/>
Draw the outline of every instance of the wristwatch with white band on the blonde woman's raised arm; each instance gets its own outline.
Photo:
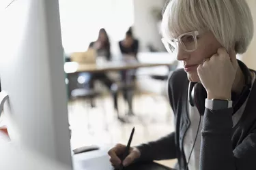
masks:
<path id="1" fill-rule="evenodd" d="M 218 110 L 232 107 L 233 102 L 225 99 L 205 99 L 205 108 Z"/>

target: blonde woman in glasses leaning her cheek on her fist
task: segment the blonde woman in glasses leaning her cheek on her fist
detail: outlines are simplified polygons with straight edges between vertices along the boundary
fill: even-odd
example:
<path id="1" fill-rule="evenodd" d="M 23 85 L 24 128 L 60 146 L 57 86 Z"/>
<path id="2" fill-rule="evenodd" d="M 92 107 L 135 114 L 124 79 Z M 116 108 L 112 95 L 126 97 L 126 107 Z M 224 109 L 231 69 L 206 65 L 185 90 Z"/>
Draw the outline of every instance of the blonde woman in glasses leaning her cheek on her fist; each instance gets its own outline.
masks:
<path id="1" fill-rule="evenodd" d="M 168 81 L 175 131 L 131 148 L 123 162 L 118 144 L 111 163 L 177 158 L 176 169 L 256 169 L 256 72 L 236 60 L 253 37 L 246 1 L 172 0 L 162 36 L 184 64 Z"/>

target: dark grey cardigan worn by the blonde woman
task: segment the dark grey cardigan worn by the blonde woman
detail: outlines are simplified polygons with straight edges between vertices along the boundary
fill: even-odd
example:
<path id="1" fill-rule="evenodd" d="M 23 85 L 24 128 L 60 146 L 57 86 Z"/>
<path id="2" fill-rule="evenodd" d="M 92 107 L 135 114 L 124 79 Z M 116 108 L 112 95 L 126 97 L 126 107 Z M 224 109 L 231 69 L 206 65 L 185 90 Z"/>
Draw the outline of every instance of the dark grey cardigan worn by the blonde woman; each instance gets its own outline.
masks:
<path id="1" fill-rule="evenodd" d="M 188 118 L 188 79 L 183 69 L 168 80 L 168 95 L 175 114 L 175 132 L 157 141 L 138 146 L 143 160 L 177 158 L 178 169 L 186 168 L 183 139 L 190 125 Z M 201 131 L 201 170 L 256 169 L 256 83 L 253 84 L 244 113 L 233 127 L 233 108 L 212 112 L 205 109 Z"/>

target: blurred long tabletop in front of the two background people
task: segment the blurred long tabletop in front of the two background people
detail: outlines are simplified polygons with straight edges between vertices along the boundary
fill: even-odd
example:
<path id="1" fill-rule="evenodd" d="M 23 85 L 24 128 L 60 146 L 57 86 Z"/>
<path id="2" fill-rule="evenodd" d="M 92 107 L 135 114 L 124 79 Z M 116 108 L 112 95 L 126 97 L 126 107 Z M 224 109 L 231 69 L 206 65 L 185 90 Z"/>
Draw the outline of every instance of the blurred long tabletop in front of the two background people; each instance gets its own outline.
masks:
<path id="1" fill-rule="evenodd" d="M 171 65 L 171 63 L 125 63 L 120 61 L 110 61 L 104 64 L 79 64 L 76 62 L 66 62 L 64 64 L 64 70 L 66 73 L 104 72 L 168 65 Z"/>

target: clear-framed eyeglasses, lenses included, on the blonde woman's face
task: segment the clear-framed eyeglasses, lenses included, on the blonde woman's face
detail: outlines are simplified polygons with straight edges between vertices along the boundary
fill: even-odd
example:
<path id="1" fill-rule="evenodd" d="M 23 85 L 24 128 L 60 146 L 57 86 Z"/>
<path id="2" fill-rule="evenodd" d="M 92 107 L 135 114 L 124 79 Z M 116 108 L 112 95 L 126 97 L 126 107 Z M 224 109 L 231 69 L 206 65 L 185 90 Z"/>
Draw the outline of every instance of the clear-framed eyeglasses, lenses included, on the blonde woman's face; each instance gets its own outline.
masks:
<path id="1" fill-rule="evenodd" d="M 164 44 L 167 52 L 173 53 L 177 52 L 178 44 L 182 45 L 182 49 L 186 52 L 193 52 L 197 50 L 197 35 L 199 35 L 198 31 L 192 31 L 188 33 L 184 33 L 177 37 L 177 39 L 165 39 L 162 38 L 162 44 Z"/>

